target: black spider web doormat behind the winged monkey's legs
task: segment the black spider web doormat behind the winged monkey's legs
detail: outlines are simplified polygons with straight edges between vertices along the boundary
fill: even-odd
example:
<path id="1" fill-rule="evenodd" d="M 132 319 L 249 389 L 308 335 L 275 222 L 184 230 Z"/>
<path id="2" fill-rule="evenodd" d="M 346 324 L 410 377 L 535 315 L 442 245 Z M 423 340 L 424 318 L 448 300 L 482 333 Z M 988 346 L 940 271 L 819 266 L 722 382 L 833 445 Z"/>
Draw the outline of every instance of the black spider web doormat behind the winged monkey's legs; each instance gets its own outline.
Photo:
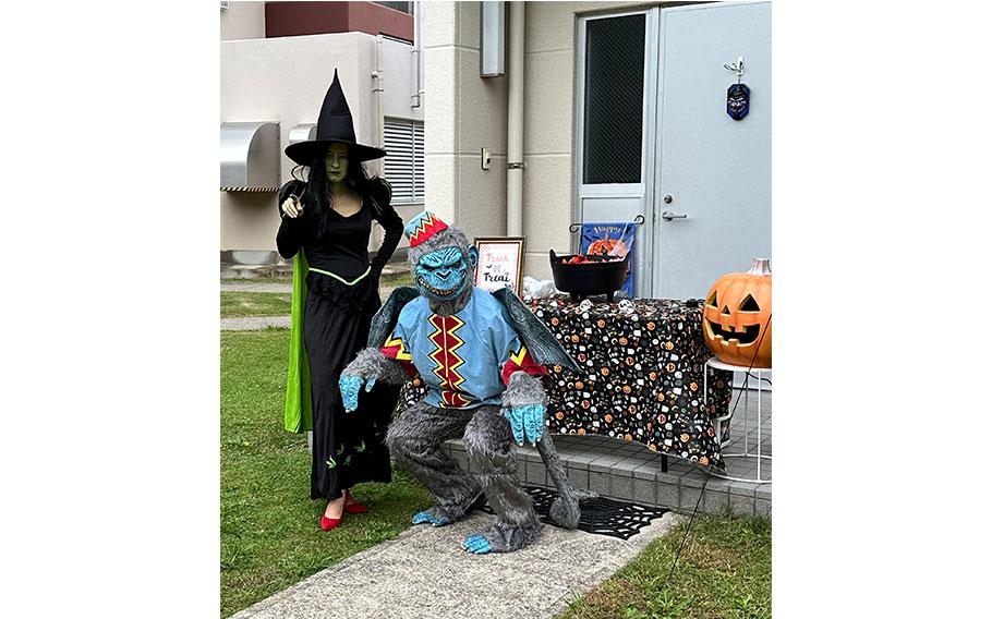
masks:
<path id="1" fill-rule="evenodd" d="M 524 486 L 523 489 L 534 499 L 534 511 L 537 512 L 541 522 L 558 526 L 548 515 L 552 501 L 558 498 L 558 493 L 535 486 Z M 582 510 L 578 526 L 580 531 L 620 539 L 629 539 L 637 535 L 641 529 L 651 524 L 652 520 L 669 511 L 663 507 L 645 507 L 604 497 L 583 499 L 579 505 Z M 488 502 L 480 509 L 486 513 L 494 513 Z"/>

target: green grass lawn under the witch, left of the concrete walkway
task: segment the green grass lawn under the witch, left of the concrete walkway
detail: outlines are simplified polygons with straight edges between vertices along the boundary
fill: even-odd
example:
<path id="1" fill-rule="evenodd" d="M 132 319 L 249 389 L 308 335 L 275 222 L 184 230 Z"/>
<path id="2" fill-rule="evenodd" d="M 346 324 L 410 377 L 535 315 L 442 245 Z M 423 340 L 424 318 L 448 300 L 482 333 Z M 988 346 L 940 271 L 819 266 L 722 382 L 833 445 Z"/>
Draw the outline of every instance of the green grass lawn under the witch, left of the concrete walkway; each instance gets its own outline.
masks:
<path id="1" fill-rule="evenodd" d="M 289 330 L 220 336 L 220 600 L 227 617 L 379 542 L 431 505 L 401 472 L 362 484 L 367 514 L 323 532 L 306 435 L 282 428 Z"/>

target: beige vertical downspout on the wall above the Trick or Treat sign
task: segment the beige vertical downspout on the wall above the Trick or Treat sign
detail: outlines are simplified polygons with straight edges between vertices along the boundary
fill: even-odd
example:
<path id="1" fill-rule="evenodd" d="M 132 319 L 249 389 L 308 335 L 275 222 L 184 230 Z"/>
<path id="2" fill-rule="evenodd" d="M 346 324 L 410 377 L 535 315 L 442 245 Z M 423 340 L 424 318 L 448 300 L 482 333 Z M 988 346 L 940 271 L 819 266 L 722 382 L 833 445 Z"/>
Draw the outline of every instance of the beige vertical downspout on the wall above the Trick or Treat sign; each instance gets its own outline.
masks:
<path id="1" fill-rule="evenodd" d="M 523 235 L 523 11 L 524 2 L 507 2 L 509 15 L 509 84 L 507 89 L 506 233 Z"/>

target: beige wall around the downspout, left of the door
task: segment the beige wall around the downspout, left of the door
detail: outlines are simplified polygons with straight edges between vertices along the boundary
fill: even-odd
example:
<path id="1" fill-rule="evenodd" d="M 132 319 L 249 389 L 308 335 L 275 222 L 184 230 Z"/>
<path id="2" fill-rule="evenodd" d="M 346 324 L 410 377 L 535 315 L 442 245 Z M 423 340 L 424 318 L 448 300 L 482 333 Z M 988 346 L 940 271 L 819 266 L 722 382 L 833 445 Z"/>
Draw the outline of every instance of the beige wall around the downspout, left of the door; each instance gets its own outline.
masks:
<path id="1" fill-rule="evenodd" d="M 523 233 L 525 272 L 552 279 L 547 251 L 571 248 L 574 205 L 576 31 L 580 14 L 651 2 L 527 2 Z M 507 11 L 509 21 L 509 11 Z M 506 76 L 479 76 L 480 3 L 424 7 L 427 204 L 475 235 L 506 233 Z M 509 31 L 509 23 L 507 24 Z M 480 169 L 480 149 L 494 154 Z"/>

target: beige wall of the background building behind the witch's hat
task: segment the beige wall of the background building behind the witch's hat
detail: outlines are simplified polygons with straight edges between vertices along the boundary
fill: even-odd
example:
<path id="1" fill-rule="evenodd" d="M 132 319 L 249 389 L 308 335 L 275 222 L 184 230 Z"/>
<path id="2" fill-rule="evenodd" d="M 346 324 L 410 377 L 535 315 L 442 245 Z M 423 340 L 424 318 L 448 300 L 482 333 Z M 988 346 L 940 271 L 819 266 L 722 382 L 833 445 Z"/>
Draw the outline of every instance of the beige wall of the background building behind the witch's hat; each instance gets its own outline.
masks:
<path id="1" fill-rule="evenodd" d="M 231 3 L 232 7 L 240 3 Z M 220 44 L 220 122 L 277 121 L 280 132 L 280 182 L 291 178 L 293 163 L 281 154 L 289 132 L 317 121 L 320 104 L 335 68 L 348 97 L 360 142 L 376 142 L 372 73 L 376 37 L 342 33 L 270 39 L 228 40 Z M 423 120 L 423 107 L 410 107 L 414 56 L 412 47 L 384 43 L 385 111 L 387 116 Z M 380 162 L 370 169 L 380 173 Z M 421 206 L 401 207 L 408 218 Z M 220 192 L 220 248 L 275 251 L 279 216 L 274 193 Z M 373 234 L 370 247 L 380 242 Z"/>

